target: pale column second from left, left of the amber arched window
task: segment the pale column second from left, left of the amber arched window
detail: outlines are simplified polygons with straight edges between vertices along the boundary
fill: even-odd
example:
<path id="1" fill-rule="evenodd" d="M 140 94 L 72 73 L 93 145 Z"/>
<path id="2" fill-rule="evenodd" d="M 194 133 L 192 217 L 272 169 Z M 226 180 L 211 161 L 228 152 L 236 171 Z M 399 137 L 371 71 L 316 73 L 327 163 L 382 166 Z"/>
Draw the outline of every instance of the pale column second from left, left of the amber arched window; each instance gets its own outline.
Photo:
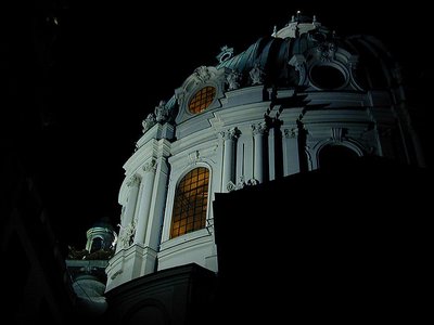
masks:
<path id="1" fill-rule="evenodd" d="M 142 193 L 140 197 L 139 213 L 137 216 L 137 226 L 135 244 L 144 244 L 144 236 L 146 234 L 148 219 L 152 200 L 152 193 L 154 192 L 156 164 L 154 159 L 143 166 L 144 174 L 142 179 Z"/>

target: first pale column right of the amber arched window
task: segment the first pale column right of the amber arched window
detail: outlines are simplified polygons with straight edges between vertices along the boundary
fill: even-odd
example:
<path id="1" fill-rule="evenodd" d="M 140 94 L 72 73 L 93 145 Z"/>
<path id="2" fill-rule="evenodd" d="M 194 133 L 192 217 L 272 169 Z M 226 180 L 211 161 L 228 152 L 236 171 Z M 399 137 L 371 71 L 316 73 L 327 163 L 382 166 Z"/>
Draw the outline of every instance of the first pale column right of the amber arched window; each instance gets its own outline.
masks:
<path id="1" fill-rule="evenodd" d="M 235 182 L 235 144 L 240 133 L 238 128 L 220 132 L 224 139 L 222 192 L 228 192 L 229 182 Z"/>

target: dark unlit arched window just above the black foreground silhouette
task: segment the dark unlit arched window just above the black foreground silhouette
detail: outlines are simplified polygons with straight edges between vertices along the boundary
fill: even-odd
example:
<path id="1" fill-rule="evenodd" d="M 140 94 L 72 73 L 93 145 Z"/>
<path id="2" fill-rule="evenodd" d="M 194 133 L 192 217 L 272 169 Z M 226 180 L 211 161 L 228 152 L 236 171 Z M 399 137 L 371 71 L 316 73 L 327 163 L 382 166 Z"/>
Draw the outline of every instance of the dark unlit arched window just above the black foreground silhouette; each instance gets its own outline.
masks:
<path id="1" fill-rule="evenodd" d="M 356 152 L 344 145 L 328 144 L 319 152 L 319 167 L 321 169 L 336 169 L 348 167 L 357 159 Z"/>

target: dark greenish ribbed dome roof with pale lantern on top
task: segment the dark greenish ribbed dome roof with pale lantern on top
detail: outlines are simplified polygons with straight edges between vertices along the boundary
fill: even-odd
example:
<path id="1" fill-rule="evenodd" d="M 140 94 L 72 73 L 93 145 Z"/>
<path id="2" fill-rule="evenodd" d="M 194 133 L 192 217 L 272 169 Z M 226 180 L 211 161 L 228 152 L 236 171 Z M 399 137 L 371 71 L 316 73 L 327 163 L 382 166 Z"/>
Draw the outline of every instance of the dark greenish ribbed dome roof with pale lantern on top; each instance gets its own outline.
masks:
<path id="1" fill-rule="evenodd" d="M 395 69 L 374 37 L 336 36 L 315 16 L 293 16 L 285 27 L 259 38 L 235 56 L 225 55 L 226 51 L 224 48 L 218 55 L 217 69 L 237 73 L 239 87 L 255 83 L 251 72 L 256 68 L 269 87 L 359 91 L 391 86 Z"/>

